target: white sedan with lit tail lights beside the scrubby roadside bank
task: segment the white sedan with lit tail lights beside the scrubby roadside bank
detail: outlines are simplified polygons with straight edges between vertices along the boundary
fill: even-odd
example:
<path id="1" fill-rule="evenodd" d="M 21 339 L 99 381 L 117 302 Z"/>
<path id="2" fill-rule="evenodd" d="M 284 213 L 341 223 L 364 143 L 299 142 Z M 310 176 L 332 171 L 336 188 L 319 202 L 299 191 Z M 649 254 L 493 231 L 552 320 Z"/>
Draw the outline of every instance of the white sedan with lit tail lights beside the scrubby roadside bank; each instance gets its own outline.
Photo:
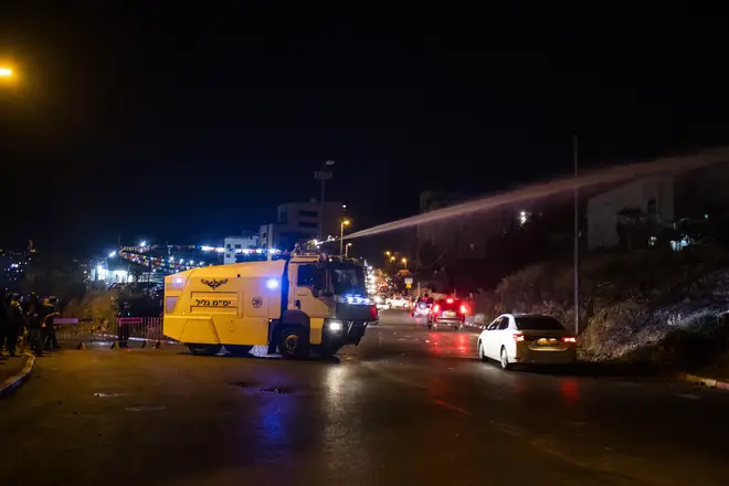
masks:
<path id="1" fill-rule="evenodd" d="M 504 314 L 478 336 L 478 357 L 498 360 L 505 370 L 514 363 L 572 363 L 577 338 L 553 317 Z"/>

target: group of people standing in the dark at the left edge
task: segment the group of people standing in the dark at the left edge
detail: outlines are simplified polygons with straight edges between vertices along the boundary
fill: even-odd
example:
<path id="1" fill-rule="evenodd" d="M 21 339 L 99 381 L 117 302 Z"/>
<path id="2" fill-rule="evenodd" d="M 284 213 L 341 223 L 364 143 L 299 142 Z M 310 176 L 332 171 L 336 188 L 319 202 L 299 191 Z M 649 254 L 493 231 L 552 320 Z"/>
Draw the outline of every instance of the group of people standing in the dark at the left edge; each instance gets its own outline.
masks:
<path id="1" fill-rule="evenodd" d="M 31 294 L 24 300 L 20 294 L 0 295 L 0 355 L 4 349 L 15 356 L 27 344 L 35 356 L 43 356 L 43 349 L 59 349 L 53 327 L 59 316 L 51 298 L 41 300 Z"/>

